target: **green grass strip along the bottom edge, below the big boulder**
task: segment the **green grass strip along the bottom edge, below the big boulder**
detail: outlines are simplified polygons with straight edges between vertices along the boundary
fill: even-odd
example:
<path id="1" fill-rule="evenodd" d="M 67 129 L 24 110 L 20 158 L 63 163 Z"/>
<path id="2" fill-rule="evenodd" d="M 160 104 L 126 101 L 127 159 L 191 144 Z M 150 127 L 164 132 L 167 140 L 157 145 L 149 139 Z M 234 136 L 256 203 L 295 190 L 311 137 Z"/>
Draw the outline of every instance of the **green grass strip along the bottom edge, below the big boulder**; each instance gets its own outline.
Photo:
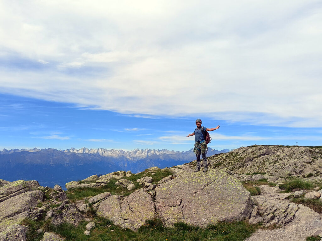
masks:
<path id="1" fill-rule="evenodd" d="M 160 219 L 146 221 L 137 232 L 128 228 L 120 228 L 113 225 L 111 221 L 104 218 L 95 217 L 95 228 L 90 231 L 90 235 L 84 235 L 85 226 L 88 222 L 81 222 L 77 228 L 69 224 L 62 224 L 56 227 L 51 226 L 49 230 L 66 238 L 66 241 L 107 241 L 107 240 L 125 240 L 125 241 L 209 241 L 209 240 L 235 240 L 241 241 L 250 237 L 259 225 L 251 225 L 246 221 L 238 222 L 219 222 L 209 224 L 206 228 L 194 227 L 182 222 L 174 224 L 172 228 L 165 227 Z M 108 227 L 111 225 L 111 227 Z M 37 234 L 40 227 L 37 222 L 30 225 L 30 232 L 27 234 L 27 241 L 39 241 L 43 233 Z M 114 230 L 111 232 L 111 230 Z"/>

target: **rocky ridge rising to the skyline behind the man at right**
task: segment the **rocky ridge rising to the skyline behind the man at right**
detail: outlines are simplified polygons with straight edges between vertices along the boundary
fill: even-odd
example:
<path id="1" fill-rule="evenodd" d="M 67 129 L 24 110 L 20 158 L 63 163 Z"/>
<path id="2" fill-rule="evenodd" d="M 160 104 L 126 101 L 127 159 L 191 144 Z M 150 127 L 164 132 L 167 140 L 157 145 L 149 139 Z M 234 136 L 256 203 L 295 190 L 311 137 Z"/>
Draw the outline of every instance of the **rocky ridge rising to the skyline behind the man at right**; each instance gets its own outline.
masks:
<path id="1" fill-rule="evenodd" d="M 195 161 L 188 165 L 194 166 Z M 322 148 L 297 146 L 240 147 L 208 158 L 210 168 L 237 174 L 267 174 L 276 177 L 319 177 L 322 175 Z"/>

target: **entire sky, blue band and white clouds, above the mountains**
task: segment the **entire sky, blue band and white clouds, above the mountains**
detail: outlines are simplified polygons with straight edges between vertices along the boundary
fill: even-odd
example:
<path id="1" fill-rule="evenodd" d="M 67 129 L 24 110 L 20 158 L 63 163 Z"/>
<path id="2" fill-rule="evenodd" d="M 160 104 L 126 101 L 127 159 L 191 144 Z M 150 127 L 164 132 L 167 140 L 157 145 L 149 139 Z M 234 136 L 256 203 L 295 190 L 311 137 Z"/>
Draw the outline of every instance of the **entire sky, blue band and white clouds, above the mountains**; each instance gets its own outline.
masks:
<path id="1" fill-rule="evenodd" d="M 0 149 L 322 145 L 321 1 L 1 1 Z"/>

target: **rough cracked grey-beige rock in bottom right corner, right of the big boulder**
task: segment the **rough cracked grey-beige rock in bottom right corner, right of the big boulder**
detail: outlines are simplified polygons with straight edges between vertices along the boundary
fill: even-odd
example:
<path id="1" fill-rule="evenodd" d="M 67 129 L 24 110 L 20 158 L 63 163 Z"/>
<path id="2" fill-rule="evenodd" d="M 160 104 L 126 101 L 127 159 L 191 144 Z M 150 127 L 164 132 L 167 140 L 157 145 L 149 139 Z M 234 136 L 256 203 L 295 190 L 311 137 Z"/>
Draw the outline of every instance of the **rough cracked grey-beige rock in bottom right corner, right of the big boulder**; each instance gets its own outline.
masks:
<path id="1" fill-rule="evenodd" d="M 273 230 L 257 230 L 246 241 L 305 241 L 311 235 L 322 235 L 321 215 L 312 209 L 290 202 L 289 193 L 279 188 L 260 185 L 260 196 L 251 196 L 254 209 L 250 223 L 263 222 L 264 226 L 277 225 Z"/>

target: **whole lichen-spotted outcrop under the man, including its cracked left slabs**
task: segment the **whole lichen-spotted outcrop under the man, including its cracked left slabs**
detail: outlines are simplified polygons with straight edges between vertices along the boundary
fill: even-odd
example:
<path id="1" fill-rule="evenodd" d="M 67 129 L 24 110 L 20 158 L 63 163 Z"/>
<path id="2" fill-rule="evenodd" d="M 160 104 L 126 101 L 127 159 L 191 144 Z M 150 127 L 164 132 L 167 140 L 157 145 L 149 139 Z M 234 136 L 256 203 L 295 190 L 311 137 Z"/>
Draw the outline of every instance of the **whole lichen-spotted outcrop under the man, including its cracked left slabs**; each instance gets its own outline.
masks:
<path id="1" fill-rule="evenodd" d="M 150 185 L 127 197 L 112 195 L 93 207 L 99 216 L 133 230 L 154 217 L 166 225 L 182 221 L 201 227 L 219 220 L 249 217 L 250 194 L 235 177 L 222 170 L 205 174 L 194 173 L 187 166 L 178 170 L 176 178 L 159 186 Z"/>

